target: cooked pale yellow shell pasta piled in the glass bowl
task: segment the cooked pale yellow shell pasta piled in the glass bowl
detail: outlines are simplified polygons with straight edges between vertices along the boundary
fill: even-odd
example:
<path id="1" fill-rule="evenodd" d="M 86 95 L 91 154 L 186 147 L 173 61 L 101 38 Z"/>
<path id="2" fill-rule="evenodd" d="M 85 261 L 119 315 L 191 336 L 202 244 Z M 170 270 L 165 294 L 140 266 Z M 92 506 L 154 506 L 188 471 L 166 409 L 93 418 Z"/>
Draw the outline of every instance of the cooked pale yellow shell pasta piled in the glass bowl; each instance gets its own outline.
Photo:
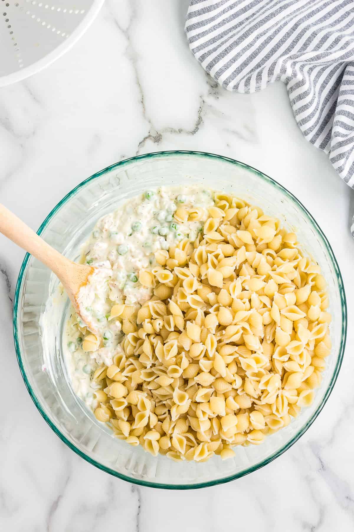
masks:
<path id="1" fill-rule="evenodd" d="M 112 306 L 122 342 L 92 377 L 97 420 L 175 461 L 226 460 L 289 425 L 331 352 L 326 282 L 296 235 L 260 207 L 211 197 L 176 200 L 171 224 L 201 229 L 154 251 L 139 272 L 146 301 Z M 98 342 L 86 331 L 84 348 Z"/>

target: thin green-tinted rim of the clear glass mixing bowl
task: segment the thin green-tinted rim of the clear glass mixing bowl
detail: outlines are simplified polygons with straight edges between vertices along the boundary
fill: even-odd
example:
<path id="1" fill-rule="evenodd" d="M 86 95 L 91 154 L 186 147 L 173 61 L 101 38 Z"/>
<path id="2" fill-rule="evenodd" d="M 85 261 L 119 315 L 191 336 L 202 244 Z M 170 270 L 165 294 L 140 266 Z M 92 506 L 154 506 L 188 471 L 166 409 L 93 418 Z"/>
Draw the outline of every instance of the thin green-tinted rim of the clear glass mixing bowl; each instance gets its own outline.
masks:
<path id="1" fill-rule="evenodd" d="M 306 214 L 308 220 L 312 223 L 313 228 L 315 229 L 318 237 L 321 239 L 324 247 L 327 250 L 327 253 L 329 254 L 329 256 L 330 256 L 330 258 L 332 260 L 333 267 L 334 267 L 334 270 L 336 272 L 336 277 L 337 277 L 337 280 L 338 280 L 338 285 L 339 285 L 339 290 L 340 290 L 340 298 L 341 298 L 341 307 L 342 307 L 342 331 L 341 331 L 340 350 L 339 350 L 339 353 L 338 353 L 338 359 L 336 361 L 336 365 L 335 365 L 335 368 L 334 368 L 332 379 L 330 381 L 329 387 L 327 388 L 327 390 L 325 392 L 325 395 L 323 397 L 323 401 L 322 401 L 321 405 L 319 406 L 319 408 L 316 410 L 316 412 L 314 412 L 312 417 L 304 425 L 304 427 L 301 428 L 301 430 L 291 440 L 289 440 L 289 442 L 287 442 L 286 445 L 283 445 L 278 451 L 276 451 L 275 453 L 271 454 L 270 456 L 267 456 L 267 458 L 262 460 L 260 463 L 255 464 L 252 467 L 249 467 L 249 468 L 247 468 L 247 469 L 245 469 L 243 471 L 240 471 L 240 472 L 236 473 L 235 475 L 230 475 L 230 476 L 227 476 L 227 477 L 224 477 L 224 478 L 220 478 L 220 479 L 214 479 L 214 480 L 211 480 L 209 482 L 196 483 L 196 484 L 186 484 L 186 485 L 183 485 L 183 484 L 181 484 L 181 485 L 159 484 L 159 483 L 153 483 L 153 482 L 150 482 L 150 481 L 136 479 L 134 477 L 129 477 L 127 475 L 123 475 L 122 473 L 119 473 L 119 472 L 117 472 L 117 471 L 115 471 L 113 469 L 110 469 L 110 468 L 100 464 L 96 460 L 93 460 L 92 458 L 90 458 L 90 456 L 88 456 L 87 454 L 82 452 L 70 440 L 68 440 L 61 433 L 61 431 L 58 429 L 58 427 L 56 427 L 56 425 L 54 425 L 54 423 L 47 417 L 47 414 L 42 409 L 41 404 L 38 401 L 38 398 L 37 398 L 36 394 L 34 393 L 34 390 L 31 387 L 29 379 L 27 378 L 27 375 L 26 375 L 26 373 L 24 371 L 24 365 L 22 363 L 21 349 L 20 349 L 20 342 L 19 342 L 19 323 L 18 323 L 19 310 L 20 310 L 20 307 L 19 307 L 20 291 L 21 291 L 22 281 L 23 281 L 23 277 L 24 277 L 24 272 L 25 272 L 25 269 L 27 267 L 27 263 L 28 263 L 29 258 L 30 258 L 29 253 L 27 253 L 25 255 L 24 260 L 22 262 L 20 273 L 19 273 L 19 277 L 18 277 L 18 281 L 17 281 L 17 284 L 16 284 L 16 289 L 15 289 L 14 307 L 13 307 L 13 334 L 14 334 L 15 351 L 16 351 L 16 356 L 17 356 L 17 359 L 18 359 L 20 371 L 21 371 L 25 386 L 27 387 L 28 392 L 29 392 L 34 404 L 37 406 L 37 409 L 39 410 L 40 414 L 45 419 L 45 421 L 48 423 L 50 428 L 54 430 L 55 434 L 57 436 L 59 436 L 59 438 L 61 438 L 63 440 L 63 442 L 68 447 L 71 448 L 72 451 L 74 451 L 76 454 L 81 456 L 81 458 L 83 458 L 84 460 L 87 460 L 89 463 L 91 463 L 95 467 L 101 469 L 102 471 L 105 471 L 106 473 L 109 473 L 110 475 L 118 477 L 118 478 L 120 478 L 122 480 L 126 480 L 127 482 L 130 482 L 130 483 L 133 483 L 133 484 L 138 484 L 138 485 L 141 485 L 141 486 L 148 486 L 148 487 L 153 487 L 153 488 L 164 488 L 164 489 L 195 489 L 195 488 L 203 488 L 203 487 L 215 486 L 217 484 L 224 484 L 224 483 L 229 482 L 231 480 L 235 480 L 237 478 L 240 478 L 240 477 L 243 477 L 245 475 L 248 475 L 248 473 L 252 473 L 253 471 L 256 471 L 257 469 L 260 469 L 260 468 L 264 467 L 264 465 L 269 464 L 270 462 L 275 460 L 275 458 L 278 458 L 278 456 L 280 456 L 285 451 L 287 451 L 291 447 L 291 445 L 293 445 L 295 442 L 297 442 L 297 440 L 301 436 L 303 436 L 303 434 L 305 434 L 306 430 L 312 425 L 314 420 L 317 418 L 317 415 L 323 409 L 327 399 L 329 398 L 329 396 L 330 396 L 330 394 L 332 392 L 333 386 L 334 386 L 335 381 L 336 381 L 336 379 L 338 377 L 338 374 L 339 374 L 339 370 L 340 370 L 340 367 L 341 367 L 341 364 L 342 364 L 342 360 L 343 360 L 344 348 L 346 346 L 346 338 L 347 338 L 347 301 L 346 301 L 346 294 L 344 292 L 344 285 L 343 285 L 342 275 L 341 275 L 341 272 L 340 272 L 340 269 L 339 269 L 338 262 L 335 259 L 332 247 L 331 247 L 330 243 L 328 242 L 326 236 L 323 234 L 323 231 L 321 230 L 320 226 L 318 226 L 318 223 L 313 218 L 313 216 L 308 212 L 306 207 L 296 198 L 296 196 L 291 194 L 291 192 L 289 192 L 289 190 L 287 190 L 285 187 L 280 185 L 277 181 L 275 181 L 271 177 L 267 176 L 266 174 L 264 174 L 260 170 L 257 170 L 256 168 L 253 168 L 253 167 L 251 167 L 248 164 L 245 164 L 243 162 L 237 161 L 235 159 L 231 159 L 230 157 L 225 157 L 225 156 L 217 155 L 217 154 L 213 154 L 213 153 L 187 151 L 187 150 L 173 150 L 173 151 L 152 152 L 152 153 L 146 153 L 146 154 L 143 154 L 143 155 L 136 155 L 134 157 L 130 157 L 129 159 L 124 159 L 123 161 L 119 161 L 118 163 L 111 164 L 109 167 L 106 167 L 103 170 L 101 170 L 101 171 L 99 171 L 97 173 L 94 173 L 92 176 L 90 176 L 89 178 L 85 179 L 79 185 L 77 185 L 75 188 L 73 188 L 71 190 L 71 192 L 69 192 L 54 207 L 54 209 L 48 214 L 47 218 L 44 220 L 44 222 L 41 224 L 40 228 L 38 229 L 37 234 L 41 235 L 42 231 L 47 227 L 49 221 L 51 220 L 51 218 L 53 218 L 54 214 L 61 208 L 61 206 L 64 205 L 78 190 L 80 190 L 82 187 L 84 187 L 89 181 L 91 181 L 93 179 L 96 179 L 96 178 L 102 176 L 103 174 L 105 174 L 107 172 L 110 172 L 111 170 L 114 170 L 116 168 L 128 167 L 130 164 L 132 164 L 132 163 L 134 163 L 136 161 L 149 161 L 149 160 L 152 160 L 152 159 L 157 159 L 158 157 L 169 157 L 170 155 L 176 155 L 176 156 L 179 156 L 179 155 L 180 156 L 190 156 L 191 155 L 191 156 L 201 157 L 203 159 L 214 159 L 214 160 L 217 159 L 217 160 L 220 160 L 220 161 L 225 161 L 225 162 L 228 162 L 228 163 L 232 163 L 232 164 L 235 164 L 237 167 L 246 169 L 246 170 L 254 173 L 259 178 L 267 181 L 273 187 L 280 189 L 284 193 L 284 195 L 286 195 L 292 202 L 294 202 L 300 208 L 300 210 L 302 210 Z"/>

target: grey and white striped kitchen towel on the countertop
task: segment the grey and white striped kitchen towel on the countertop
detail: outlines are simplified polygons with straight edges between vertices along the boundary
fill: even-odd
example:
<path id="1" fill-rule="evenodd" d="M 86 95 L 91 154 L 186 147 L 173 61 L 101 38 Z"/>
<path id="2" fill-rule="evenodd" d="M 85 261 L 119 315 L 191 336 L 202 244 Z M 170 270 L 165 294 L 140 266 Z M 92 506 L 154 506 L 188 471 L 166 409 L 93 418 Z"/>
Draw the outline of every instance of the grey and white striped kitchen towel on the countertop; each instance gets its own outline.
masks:
<path id="1" fill-rule="evenodd" d="M 304 136 L 354 188 L 354 0 L 192 0 L 186 34 L 228 90 L 283 81 Z"/>

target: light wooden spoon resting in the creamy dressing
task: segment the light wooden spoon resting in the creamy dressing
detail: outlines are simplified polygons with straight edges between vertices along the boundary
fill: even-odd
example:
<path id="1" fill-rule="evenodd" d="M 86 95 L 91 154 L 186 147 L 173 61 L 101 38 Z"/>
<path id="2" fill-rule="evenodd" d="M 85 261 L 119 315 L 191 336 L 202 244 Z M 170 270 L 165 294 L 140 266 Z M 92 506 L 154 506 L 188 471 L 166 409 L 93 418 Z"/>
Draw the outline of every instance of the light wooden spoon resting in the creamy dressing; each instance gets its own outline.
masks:
<path id="1" fill-rule="evenodd" d="M 96 332 L 92 325 L 88 323 L 87 319 L 84 319 L 80 314 L 79 303 L 77 301 L 80 288 L 87 284 L 89 276 L 94 272 L 94 268 L 87 264 L 77 264 L 66 259 L 66 257 L 49 246 L 49 244 L 1 203 L 0 232 L 7 238 L 10 238 L 12 242 L 22 247 L 23 250 L 31 253 L 31 255 L 55 273 L 62 282 L 77 314 L 80 315 L 80 318 L 92 332 Z"/>

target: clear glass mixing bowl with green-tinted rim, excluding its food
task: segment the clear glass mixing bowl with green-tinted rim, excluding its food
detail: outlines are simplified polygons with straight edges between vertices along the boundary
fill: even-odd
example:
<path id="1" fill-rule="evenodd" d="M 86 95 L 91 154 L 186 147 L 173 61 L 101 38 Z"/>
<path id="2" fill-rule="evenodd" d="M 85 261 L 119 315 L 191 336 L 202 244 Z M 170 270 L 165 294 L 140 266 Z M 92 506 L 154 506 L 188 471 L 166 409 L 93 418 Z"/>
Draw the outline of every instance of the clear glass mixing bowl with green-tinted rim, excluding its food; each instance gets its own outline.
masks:
<path id="1" fill-rule="evenodd" d="M 259 446 L 235 447 L 233 459 L 214 456 L 205 463 L 154 458 L 116 438 L 73 393 L 66 376 L 62 332 L 67 298 L 55 305 L 49 326 L 41 328 L 58 280 L 27 254 L 14 301 L 14 338 L 20 369 L 38 410 L 73 451 L 96 467 L 144 486 L 186 489 L 212 486 L 239 478 L 277 458 L 305 433 L 322 410 L 342 362 L 347 310 L 343 281 L 330 244 L 315 220 L 288 190 L 244 163 L 201 152 L 160 152 L 133 157 L 94 174 L 74 188 L 51 211 L 38 230 L 51 246 L 72 260 L 102 215 L 146 188 L 201 183 L 259 205 L 296 231 L 303 250 L 315 257 L 327 280 L 332 314 L 332 352 L 313 404 L 290 425 Z"/>

